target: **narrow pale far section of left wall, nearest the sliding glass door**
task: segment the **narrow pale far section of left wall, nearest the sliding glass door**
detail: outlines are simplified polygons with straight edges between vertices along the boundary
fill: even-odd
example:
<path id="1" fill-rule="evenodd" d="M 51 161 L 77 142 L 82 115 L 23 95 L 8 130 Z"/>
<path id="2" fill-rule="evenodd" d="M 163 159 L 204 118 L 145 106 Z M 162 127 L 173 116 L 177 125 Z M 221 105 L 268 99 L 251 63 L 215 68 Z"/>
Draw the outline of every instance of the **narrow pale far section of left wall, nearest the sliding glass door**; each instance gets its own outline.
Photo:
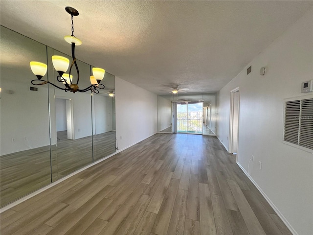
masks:
<path id="1" fill-rule="evenodd" d="M 172 102 L 161 96 L 157 96 L 157 130 L 162 131 L 171 126 Z"/>

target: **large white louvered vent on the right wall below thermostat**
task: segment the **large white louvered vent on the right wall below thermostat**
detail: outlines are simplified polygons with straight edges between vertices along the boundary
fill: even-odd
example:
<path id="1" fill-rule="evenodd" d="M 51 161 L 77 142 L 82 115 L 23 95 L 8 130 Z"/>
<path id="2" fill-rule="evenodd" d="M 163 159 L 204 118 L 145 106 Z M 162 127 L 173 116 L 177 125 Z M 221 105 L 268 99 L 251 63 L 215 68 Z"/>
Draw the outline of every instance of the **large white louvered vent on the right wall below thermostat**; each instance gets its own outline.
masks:
<path id="1" fill-rule="evenodd" d="M 284 141 L 313 149 L 313 98 L 285 102 Z"/>

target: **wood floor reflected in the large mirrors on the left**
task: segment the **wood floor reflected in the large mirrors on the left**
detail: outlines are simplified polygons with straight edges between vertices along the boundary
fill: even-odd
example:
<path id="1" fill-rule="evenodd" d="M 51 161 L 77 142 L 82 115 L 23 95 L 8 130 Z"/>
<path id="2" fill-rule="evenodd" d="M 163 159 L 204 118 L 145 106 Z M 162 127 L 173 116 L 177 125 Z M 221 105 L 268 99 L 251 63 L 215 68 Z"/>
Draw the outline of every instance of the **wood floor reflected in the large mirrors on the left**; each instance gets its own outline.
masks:
<path id="1" fill-rule="evenodd" d="M 67 140 L 59 132 L 52 145 L 52 182 L 92 163 L 91 136 Z M 115 152 L 115 131 L 93 137 L 94 161 Z M 51 183 L 50 147 L 29 149 L 0 157 L 1 207 Z"/>

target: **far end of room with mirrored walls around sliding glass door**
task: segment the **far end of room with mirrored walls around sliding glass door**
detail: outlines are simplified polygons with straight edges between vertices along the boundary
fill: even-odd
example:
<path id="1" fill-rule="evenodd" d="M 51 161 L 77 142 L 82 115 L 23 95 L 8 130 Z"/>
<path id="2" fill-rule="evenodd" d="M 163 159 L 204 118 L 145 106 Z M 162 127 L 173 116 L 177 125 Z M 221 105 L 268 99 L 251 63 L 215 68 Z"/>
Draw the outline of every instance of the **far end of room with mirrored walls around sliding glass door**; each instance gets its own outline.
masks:
<path id="1" fill-rule="evenodd" d="M 179 120 L 179 109 L 185 107 Z M 199 107 L 201 110 L 199 110 Z M 180 108 L 179 108 L 180 107 Z M 190 107 L 190 109 L 186 109 Z M 196 109 L 197 108 L 197 109 Z M 181 111 L 181 110 L 180 110 Z M 188 118 L 189 117 L 189 118 Z M 186 120 L 184 120 L 186 119 Z M 187 128 L 187 119 L 191 129 Z M 166 94 L 157 96 L 157 130 L 162 133 L 195 133 L 215 135 L 217 129 L 217 94 Z M 182 125 L 182 122 L 184 124 Z M 186 131 L 181 131 L 186 126 Z M 194 131 L 195 129 L 196 131 Z"/>

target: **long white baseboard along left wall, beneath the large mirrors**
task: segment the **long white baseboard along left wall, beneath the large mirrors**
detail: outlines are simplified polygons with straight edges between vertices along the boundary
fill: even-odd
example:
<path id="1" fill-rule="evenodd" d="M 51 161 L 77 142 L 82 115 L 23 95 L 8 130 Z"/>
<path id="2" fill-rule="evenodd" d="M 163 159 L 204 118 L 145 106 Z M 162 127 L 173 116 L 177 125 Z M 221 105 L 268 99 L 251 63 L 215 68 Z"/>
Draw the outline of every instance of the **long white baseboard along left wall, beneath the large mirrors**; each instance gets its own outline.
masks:
<path id="1" fill-rule="evenodd" d="M 148 137 L 146 137 L 146 138 L 144 138 L 144 139 L 142 139 L 142 140 L 140 140 L 140 141 L 144 141 L 145 139 L 148 139 L 149 137 L 152 137 L 152 136 L 155 135 L 155 134 L 156 134 L 156 133 L 154 133 L 154 134 L 152 134 L 152 135 L 150 135 L 150 136 L 148 136 Z M 83 168 L 81 168 L 81 169 L 79 169 L 79 170 L 76 170 L 76 171 L 70 173 L 69 175 L 67 175 L 67 176 L 65 176 L 65 177 L 63 177 L 63 178 L 61 178 L 61 179 L 59 179 L 59 180 L 57 180 L 57 181 L 55 181 L 55 182 L 53 182 L 53 183 L 50 183 L 49 185 L 47 185 L 47 186 L 45 186 L 45 187 L 43 187 L 43 188 L 40 188 L 40 189 L 38 189 L 37 191 L 34 191 L 34 192 L 32 192 L 32 193 L 30 193 L 30 194 L 28 194 L 28 195 L 26 195 L 26 196 L 24 196 L 24 197 L 22 197 L 22 198 L 20 198 L 20 199 L 18 199 L 18 200 L 16 200 L 16 201 L 14 201 L 14 202 L 12 202 L 12 203 L 10 203 L 10 204 L 4 206 L 3 208 L 0 209 L 0 213 L 2 213 L 3 211 L 9 210 L 9 209 L 11 209 L 12 207 L 15 207 L 16 205 L 18 205 L 18 204 L 20 204 L 20 203 L 22 203 L 22 202 L 28 200 L 28 199 L 31 198 L 31 197 L 36 196 L 37 194 L 39 194 L 39 193 L 45 191 L 45 190 L 48 189 L 48 188 L 52 188 L 53 186 L 55 186 L 55 185 L 57 185 L 57 184 L 60 184 L 62 181 L 67 180 L 69 177 L 72 177 L 73 175 L 76 175 L 76 174 L 78 174 L 79 172 L 82 172 L 83 170 L 86 170 L 86 169 L 88 169 L 89 167 L 91 167 L 91 166 L 93 166 L 93 165 L 96 165 L 96 164 L 101 163 L 102 161 L 104 161 L 104 160 L 106 160 L 106 159 L 108 159 L 108 158 L 111 158 L 111 157 L 114 156 L 115 154 L 117 154 L 117 153 L 119 153 L 119 152 L 121 152 L 121 151 L 123 151 L 123 150 L 125 150 L 125 149 L 127 149 L 127 148 L 129 148 L 129 147 L 131 147 L 131 146 L 133 146 L 133 145 L 135 145 L 136 143 L 139 143 L 140 141 L 136 141 L 136 142 L 134 142 L 133 144 L 131 144 L 131 145 L 129 145 L 129 146 L 123 148 L 123 149 L 119 149 L 119 150 L 117 150 L 115 153 L 112 153 L 112 154 L 110 154 L 109 156 L 107 156 L 107 157 L 105 157 L 105 158 L 102 158 L 102 159 L 100 159 L 100 160 L 98 160 L 98 161 L 96 161 L 96 162 L 94 162 L 94 163 L 92 163 L 92 164 L 86 165 L 85 167 L 83 167 Z"/>

